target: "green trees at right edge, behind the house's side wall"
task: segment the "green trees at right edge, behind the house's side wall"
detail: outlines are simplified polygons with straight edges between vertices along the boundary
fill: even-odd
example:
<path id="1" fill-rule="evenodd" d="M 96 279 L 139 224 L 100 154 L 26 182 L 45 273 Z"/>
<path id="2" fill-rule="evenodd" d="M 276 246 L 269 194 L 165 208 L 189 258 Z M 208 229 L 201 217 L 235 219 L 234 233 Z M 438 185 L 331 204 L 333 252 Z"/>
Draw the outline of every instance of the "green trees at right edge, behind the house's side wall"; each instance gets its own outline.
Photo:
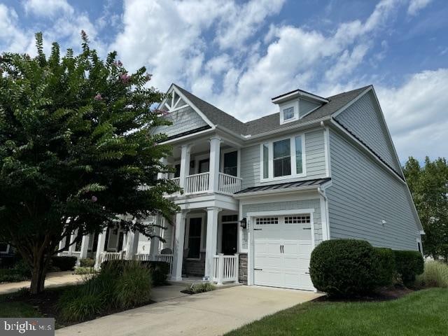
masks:
<path id="1" fill-rule="evenodd" d="M 426 157 L 423 167 L 410 157 L 403 169 L 407 184 L 425 235 L 423 252 L 448 261 L 448 164 L 445 158 L 431 161 Z"/>

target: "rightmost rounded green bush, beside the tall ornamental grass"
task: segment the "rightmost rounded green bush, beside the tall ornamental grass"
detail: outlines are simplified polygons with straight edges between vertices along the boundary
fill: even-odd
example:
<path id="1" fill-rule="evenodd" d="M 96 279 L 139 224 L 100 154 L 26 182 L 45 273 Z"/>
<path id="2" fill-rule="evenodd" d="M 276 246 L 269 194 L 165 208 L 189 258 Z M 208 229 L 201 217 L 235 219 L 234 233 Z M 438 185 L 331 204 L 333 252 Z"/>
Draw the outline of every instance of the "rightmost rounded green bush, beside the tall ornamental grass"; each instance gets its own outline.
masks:
<path id="1" fill-rule="evenodd" d="M 412 284 L 423 273 L 424 260 L 418 251 L 393 251 L 395 267 L 405 285 Z"/>

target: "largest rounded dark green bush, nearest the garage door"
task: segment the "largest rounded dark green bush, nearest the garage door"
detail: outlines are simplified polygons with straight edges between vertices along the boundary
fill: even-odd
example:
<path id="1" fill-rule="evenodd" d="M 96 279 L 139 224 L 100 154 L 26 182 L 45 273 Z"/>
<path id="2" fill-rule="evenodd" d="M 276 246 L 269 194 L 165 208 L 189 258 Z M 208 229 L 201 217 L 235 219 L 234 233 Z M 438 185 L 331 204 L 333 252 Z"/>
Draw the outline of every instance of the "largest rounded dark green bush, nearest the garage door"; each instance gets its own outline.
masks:
<path id="1" fill-rule="evenodd" d="M 330 296 L 363 295 L 379 283 L 379 260 L 367 241 L 327 240 L 311 253 L 309 272 L 314 287 Z"/>

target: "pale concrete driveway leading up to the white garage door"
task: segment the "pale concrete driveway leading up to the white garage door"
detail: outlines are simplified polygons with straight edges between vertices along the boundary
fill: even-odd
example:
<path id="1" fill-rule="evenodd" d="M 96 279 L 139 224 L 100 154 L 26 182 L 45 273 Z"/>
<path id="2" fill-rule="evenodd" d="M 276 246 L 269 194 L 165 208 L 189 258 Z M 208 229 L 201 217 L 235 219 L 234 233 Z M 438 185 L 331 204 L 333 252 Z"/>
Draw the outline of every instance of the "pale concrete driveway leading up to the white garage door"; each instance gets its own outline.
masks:
<path id="1" fill-rule="evenodd" d="M 155 296 L 161 302 L 71 325 L 56 330 L 56 335 L 222 335 L 321 295 L 258 286 L 236 286 L 197 295 L 183 295 L 179 289 L 183 287 L 157 288 Z"/>

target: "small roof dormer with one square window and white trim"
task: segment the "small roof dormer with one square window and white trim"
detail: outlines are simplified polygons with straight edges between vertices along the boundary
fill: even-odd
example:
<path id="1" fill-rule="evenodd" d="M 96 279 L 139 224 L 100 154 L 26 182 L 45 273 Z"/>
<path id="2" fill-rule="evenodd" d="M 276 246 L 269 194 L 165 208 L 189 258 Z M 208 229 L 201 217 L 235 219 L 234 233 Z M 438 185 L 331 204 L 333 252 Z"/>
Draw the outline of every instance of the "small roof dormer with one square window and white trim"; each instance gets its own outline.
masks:
<path id="1" fill-rule="evenodd" d="M 307 116 L 328 103 L 328 99 L 303 90 L 294 90 L 272 98 L 272 102 L 279 105 L 280 125 L 282 125 Z"/>

